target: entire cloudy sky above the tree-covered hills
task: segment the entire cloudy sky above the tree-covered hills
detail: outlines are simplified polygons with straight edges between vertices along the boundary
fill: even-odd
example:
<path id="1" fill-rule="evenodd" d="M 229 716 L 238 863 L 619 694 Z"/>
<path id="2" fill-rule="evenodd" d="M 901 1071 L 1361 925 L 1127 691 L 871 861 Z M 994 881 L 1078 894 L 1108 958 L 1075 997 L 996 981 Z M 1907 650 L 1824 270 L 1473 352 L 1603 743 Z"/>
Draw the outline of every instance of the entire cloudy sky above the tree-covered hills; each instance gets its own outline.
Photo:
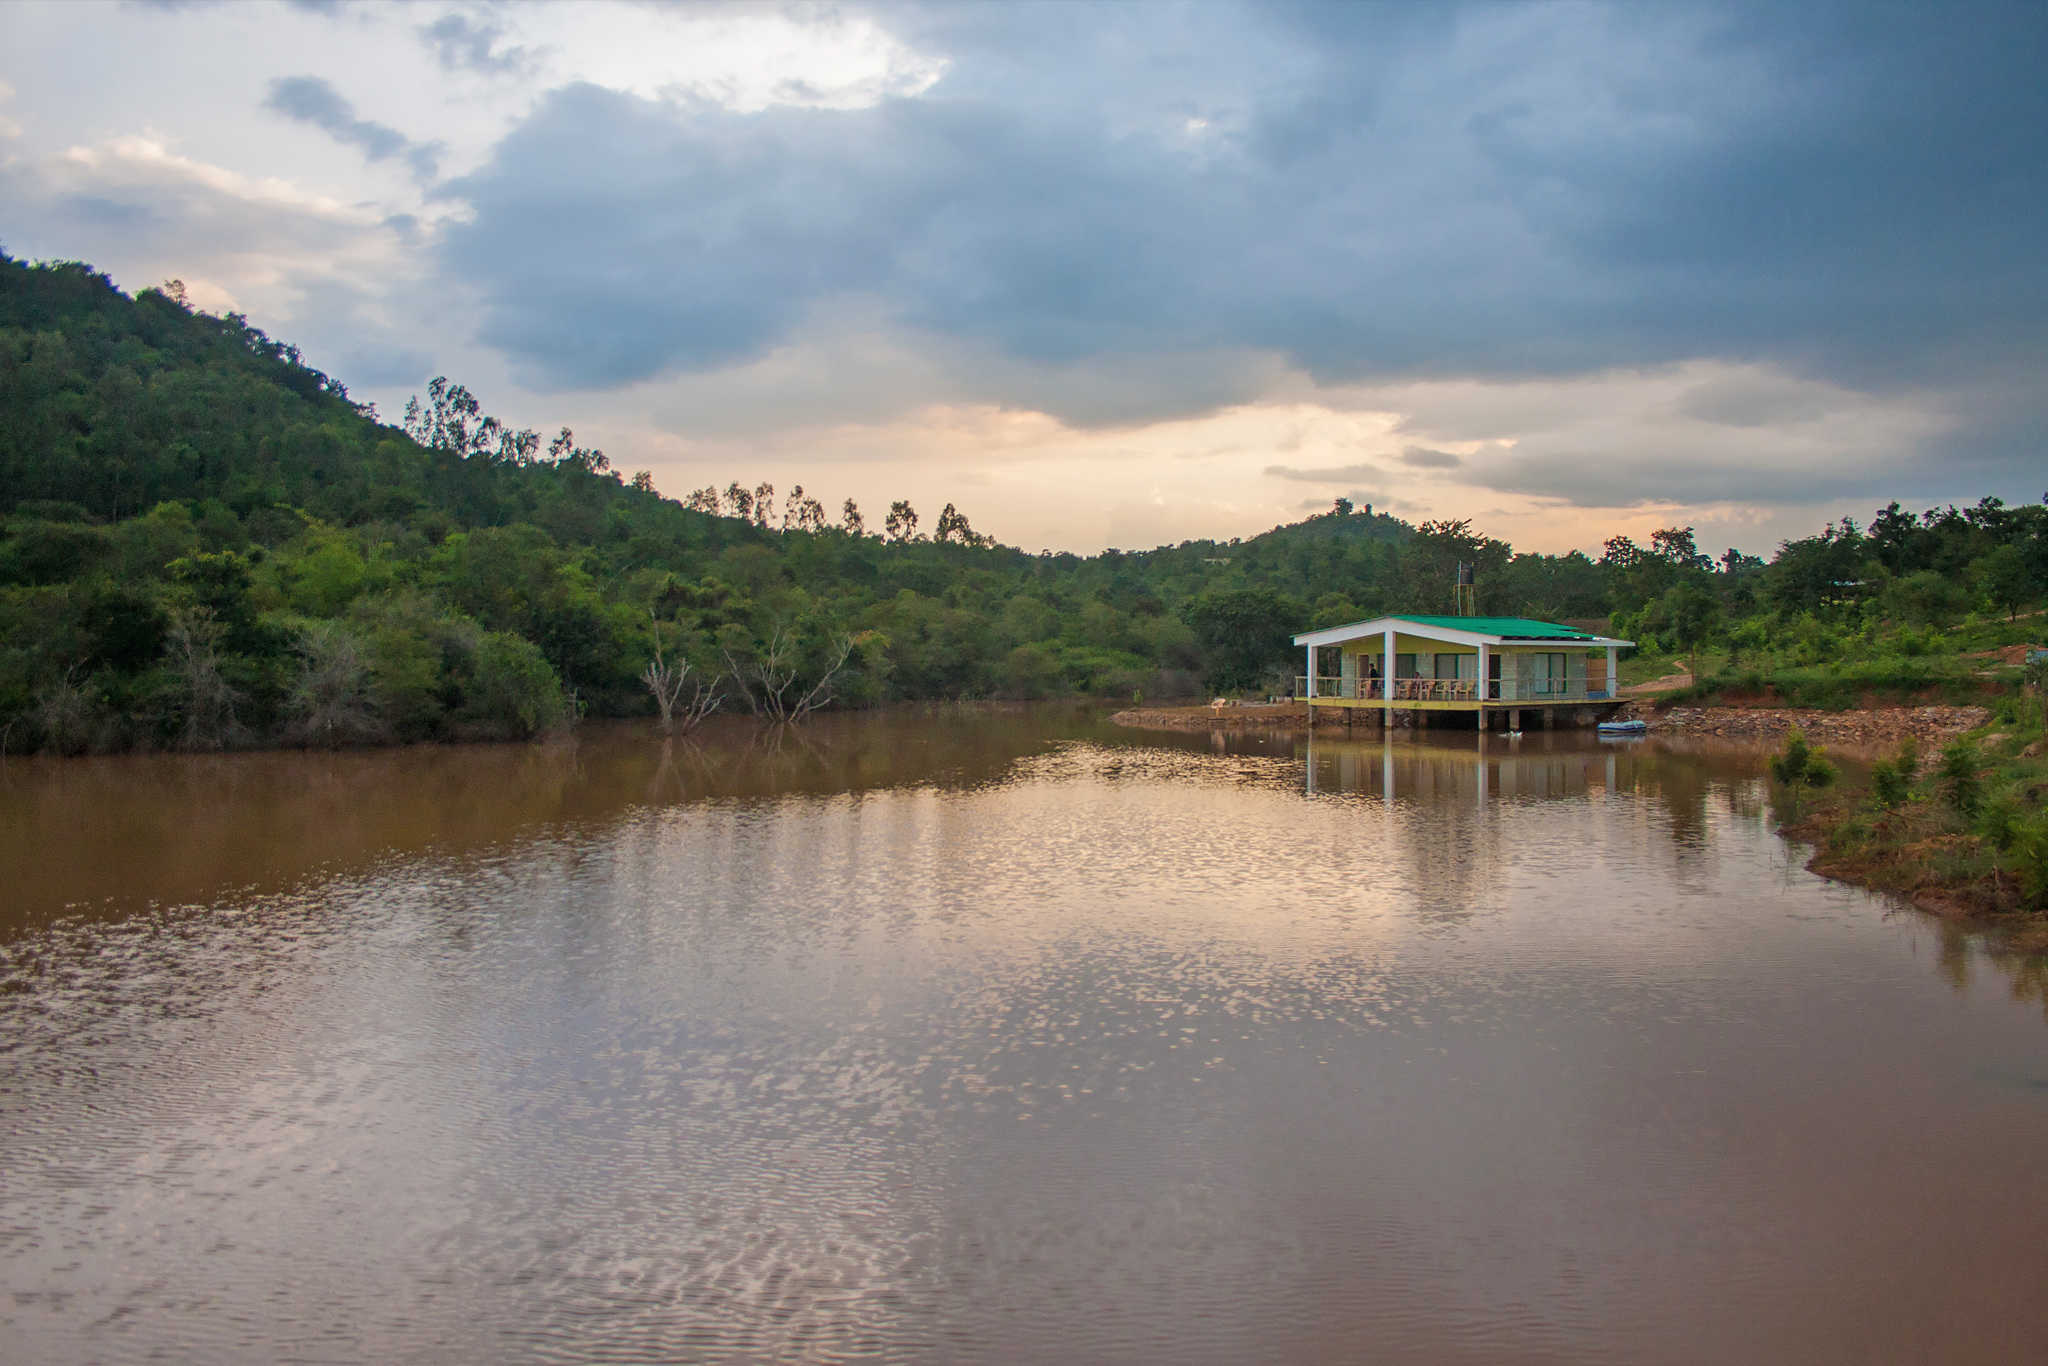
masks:
<path id="1" fill-rule="evenodd" d="M 0 6 L 0 246 L 1026 549 L 2048 489 L 2048 6 Z"/>

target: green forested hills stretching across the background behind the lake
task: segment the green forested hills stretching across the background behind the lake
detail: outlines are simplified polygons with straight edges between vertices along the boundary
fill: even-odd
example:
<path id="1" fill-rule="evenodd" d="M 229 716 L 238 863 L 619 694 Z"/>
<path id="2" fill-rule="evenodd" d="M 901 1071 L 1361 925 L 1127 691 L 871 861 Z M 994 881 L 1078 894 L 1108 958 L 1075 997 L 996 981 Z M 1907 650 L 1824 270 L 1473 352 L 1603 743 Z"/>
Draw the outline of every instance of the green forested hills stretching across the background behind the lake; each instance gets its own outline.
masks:
<path id="1" fill-rule="evenodd" d="M 129 299 L 4 256 L 0 416 L 6 752 L 526 735 L 651 711 L 655 655 L 768 711 L 834 664 L 811 700 L 1268 688 L 1292 631 L 1448 610 L 1460 559 L 1481 610 L 1677 641 L 1907 588 L 1923 614 L 2038 596 L 2048 547 L 2042 508 L 1987 500 L 1769 567 L 1686 528 L 1595 563 L 1339 504 L 1245 541 L 1026 555 L 952 506 L 874 526 L 803 487 L 662 498 L 446 381 L 391 426 L 176 285 Z"/>

